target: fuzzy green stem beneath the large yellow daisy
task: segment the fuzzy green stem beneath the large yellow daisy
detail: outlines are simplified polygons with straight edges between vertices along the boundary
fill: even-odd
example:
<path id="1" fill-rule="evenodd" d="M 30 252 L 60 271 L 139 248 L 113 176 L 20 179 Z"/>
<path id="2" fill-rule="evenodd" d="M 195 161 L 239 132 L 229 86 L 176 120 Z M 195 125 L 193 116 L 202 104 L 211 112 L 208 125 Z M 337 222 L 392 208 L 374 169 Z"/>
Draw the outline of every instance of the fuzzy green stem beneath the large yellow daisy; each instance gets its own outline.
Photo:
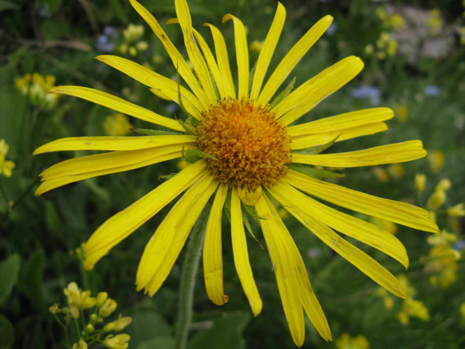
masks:
<path id="1" fill-rule="evenodd" d="M 199 269 L 206 222 L 210 209 L 211 205 L 207 203 L 191 231 L 191 236 L 187 244 L 179 286 L 178 320 L 176 322 L 176 344 L 174 346 L 176 349 L 185 349 L 187 344 L 187 336 L 192 323 L 195 277 Z"/>

